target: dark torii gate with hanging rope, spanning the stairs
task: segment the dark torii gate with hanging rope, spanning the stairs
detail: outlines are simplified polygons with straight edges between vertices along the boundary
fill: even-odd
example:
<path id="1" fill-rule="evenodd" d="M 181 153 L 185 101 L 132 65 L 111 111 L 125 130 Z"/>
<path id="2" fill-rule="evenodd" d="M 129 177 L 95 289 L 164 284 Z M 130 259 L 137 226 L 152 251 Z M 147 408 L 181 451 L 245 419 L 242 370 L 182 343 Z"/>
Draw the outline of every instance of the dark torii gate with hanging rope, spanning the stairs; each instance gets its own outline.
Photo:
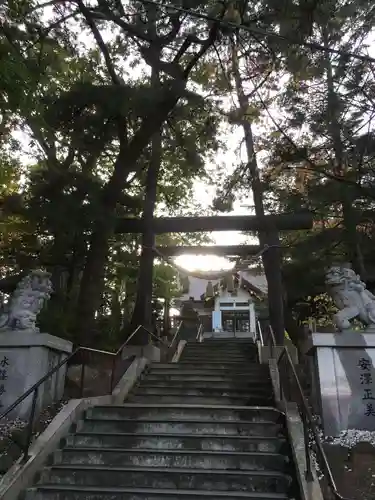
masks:
<path id="1" fill-rule="evenodd" d="M 291 231 L 301 229 L 311 229 L 313 226 L 313 217 L 310 212 L 300 212 L 294 214 L 264 215 L 257 216 L 213 216 L 213 217 L 160 217 L 154 218 L 151 225 L 152 233 L 189 233 L 204 231 L 257 231 L 267 235 L 267 241 L 270 249 L 267 250 L 267 258 L 272 264 L 272 280 L 268 282 L 268 304 L 270 321 L 275 332 L 278 343 L 284 340 L 284 307 L 283 307 L 283 288 L 281 278 L 281 251 L 280 251 L 280 231 Z M 143 219 L 122 218 L 117 223 L 117 233 L 143 233 L 149 226 Z M 215 251 L 215 248 L 217 249 Z M 240 246 L 210 246 L 210 247 L 164 247 L 159 251 L 166 256 L 175 256 L 182 253 L 219 253 L 221 255 L 255 255 L 260 251 L 256 245 Z M 154 258 L 152 248 L 144 247 L 143 252 Z M 144 306 L 144 326 L 151 325 L 151 301 L 152 301 L 152 266 L 151 272 L 147 275 L 146 289 L 143 290 L 142 301 Z"/>

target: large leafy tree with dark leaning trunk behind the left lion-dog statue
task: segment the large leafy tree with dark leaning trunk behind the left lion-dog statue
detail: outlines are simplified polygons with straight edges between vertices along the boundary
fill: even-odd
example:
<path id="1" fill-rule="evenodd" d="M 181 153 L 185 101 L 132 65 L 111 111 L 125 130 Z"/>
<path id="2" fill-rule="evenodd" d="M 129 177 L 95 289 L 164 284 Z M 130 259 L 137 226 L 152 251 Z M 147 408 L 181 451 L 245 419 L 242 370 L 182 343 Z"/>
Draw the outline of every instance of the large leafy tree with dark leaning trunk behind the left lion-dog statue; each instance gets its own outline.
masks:
<path id="1" fill-rule="evenodd" d="M 6 89 L 6 112 L 14 127 L 30 133 L 30 146 L 35 146 L 35 164 L 27 172 L 23 203 L 13 207 L 12 216 L 22 212 L 35 225 L 39 248 L 33 262 L 53 271 L 53 316 L 58 322 L 72 313 L 75 319 L 67 323 L 70 330 L 75 323 L 74 338 L 81 343 L 90 342 L 95 315 L 102 310 L 108 257 L 117 239 L 113 234 L 116 218 L 142 212 L 149 143 L 162 126 L 165 132 L 166 118 L 181 98 L 178 112 L 170 119 L 175 130 L 179 114 L 188 123 L 184 106 L 191 103 L 192 109 L 196 94 L 186 90 L 186 82 L 217 31 L 215 25 L 201 23 L 198 38 L 191 34 L 191 26 L 184 25 L 182 16 L 165 18 L 160 9 L 137 2 L 127 8 L 120 12 L 107 6 L 103 11 L 99 4 L 88 9 L 82 2 L 78 8 L 73 2 L 56 3 L 46 20 L 43 5 L 36 9 L 32 2 L 15 3 L 7 11 L 2 30 L 4 50 L 12 55 L 19 76 L 19 86 Z M 132 15 L 131 23 L 128 15 Z M 149 17 L 153 22 L 144 27 Z M 80 46 L 72 19 L 91 34 L 94 48 Z M 22 23 L 28 36 L 19 36 L 17 26 Z M 118 32 L 105 43 L 102 32 L 111 23 Z M 133 64 L 134 56 L 161 75 L 158 89 L 143 76 L 126 80 L 126 66 Z M 119 57 L 126 61 L 125 67 Z M 21 102 L 17 95 L 22 94 L 25 81 L 32 98 Z M 8 92 L 13 92 L 13 100 L 8 99 Z M 172 151 L 173 134 L 165 134 L 167 150 Z M 211 129 L 203 136 L 212 141 L 213 134 Z M 190 157 L 200 158 L 195 145 L 186 148 L 191 137 L 177 130 L 173 140 L 180 143 L 179 153 L 183 149 Z M 198 143 L 202 151 L 204 140 Z M 176 158 L 174 154 L 162 163 L 166 178 L 171 178 L 168 166 Z M 160 179 L 158 189 L 169 197 L 167 205 L 181 203 L 179 196 L 183 199 L 191 189 L 189 178 L 202 174 L 199 162 L 199 168 L 188 165 L 182 176 L 175 175 L 173 185 L 167 181 L 164 187 Z M 180 162 L 172 170 L 178 174 L 185 165 Z M 9 201 L 8 197 L 8 205 Z M 124 243 L 125 248 L 129 243 L 134 246 L 129 240 Z M 137 250 L 135 245 L 133 251 Z"/>

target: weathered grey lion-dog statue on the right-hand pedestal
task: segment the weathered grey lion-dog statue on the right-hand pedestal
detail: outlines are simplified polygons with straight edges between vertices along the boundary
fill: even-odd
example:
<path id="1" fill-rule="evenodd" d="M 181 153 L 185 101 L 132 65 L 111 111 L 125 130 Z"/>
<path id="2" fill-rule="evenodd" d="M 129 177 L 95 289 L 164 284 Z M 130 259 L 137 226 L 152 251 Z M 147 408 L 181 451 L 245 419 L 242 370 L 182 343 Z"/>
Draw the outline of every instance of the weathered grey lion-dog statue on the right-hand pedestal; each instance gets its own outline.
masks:
<path id="1" fill-rule="evenodd" d="M 365 325 L 375 326 L 375 296 L 366 284 L 347 266 L 332 266 L 326 271 L 328 293 L 340 309 L 334 322 L 340 331 L 351 327 L 350 320 L 358 318 Z"/>

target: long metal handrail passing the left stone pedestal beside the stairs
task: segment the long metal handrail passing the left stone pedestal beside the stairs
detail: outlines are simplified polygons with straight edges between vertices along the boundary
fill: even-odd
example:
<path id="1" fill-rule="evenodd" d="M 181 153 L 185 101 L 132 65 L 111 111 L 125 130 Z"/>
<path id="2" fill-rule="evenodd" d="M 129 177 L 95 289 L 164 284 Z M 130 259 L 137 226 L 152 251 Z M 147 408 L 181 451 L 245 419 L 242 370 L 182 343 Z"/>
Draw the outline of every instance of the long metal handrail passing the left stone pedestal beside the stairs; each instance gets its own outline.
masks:
<path id="1" fill-rule="evenodd" d="M 163 342 L 157 335 L 154 333 L 150 332 L 147 328 L 145 328 L 143 325 L 139 325 L 134 332 L 121 344 L 121 346 L 117 349 L 116 352 L 111 352 L 111 351 L 101 351 L 98 349 L 92 349 L 90 347 L 78 347 L 74 352 L 66 356 L 60 363 L 58 363 L 56 366 L 54 366 L 49 372 L 47 372 L 38 382 L 36 382 L 33 386 L 31 386 L 22 396 L 20 396 L 14 403 L 12 403 L 3 413 L 0 414 L 0 421 L 5 418 L 9 413 L 11 413 L 18 405 L 20 405 L 30 394 L 33 393 L 33 401 L 31 404 L 31 411 L 30 415 L 28 418 L 27 426 L 26 426 L 26 444 L 22 445 L 18 441 L 16 441 L 14 438 L 12 441 L 14 441 L 17 446 L 21 448 L 23 451 L 23 461 L 27 461 L 28 459 L 28 452 L 31 444 L 31 439 L 32 439 L 32 432 L 33 432 L 33 423 L 34 423 L 34 417 L 35 417 L 35 410 L 36 410 L 36 404 L 38 400 L 38 392 L 40 386 L 52 375 L 54 375 L 58 370 L 60 370 L 64 365 L 66 365 L 71 359 L 74 358 L 78 353 L 80 352 L 94 352 L 97 354 L 105 354 L 107 356 L 113 356 L 113 363 L 112 363 L 112 373 L 111 373 L 111 381 L 110 381 L 110 393 L 113 391 L 114 388 L 114 373 L 115 373 L 115 368 L 116 368 L 116 361 L 119 355 L 121 355 L 123 349 L 126 347 L 126 345 L 129 343 L 129 341 L 141 330 L 145 330 L 151 337 L 156 338 L 159 342 L 162 344 L 168 346 L 165 342 Z M 81 397 L 83 396 L 83 385 L 84 385 L 84 375 L 85 375 L 85 363 L 82 361 L 82 369 L 81 369 L 81 381 L 80 381 L 80 392 L 81 392 Z"/>

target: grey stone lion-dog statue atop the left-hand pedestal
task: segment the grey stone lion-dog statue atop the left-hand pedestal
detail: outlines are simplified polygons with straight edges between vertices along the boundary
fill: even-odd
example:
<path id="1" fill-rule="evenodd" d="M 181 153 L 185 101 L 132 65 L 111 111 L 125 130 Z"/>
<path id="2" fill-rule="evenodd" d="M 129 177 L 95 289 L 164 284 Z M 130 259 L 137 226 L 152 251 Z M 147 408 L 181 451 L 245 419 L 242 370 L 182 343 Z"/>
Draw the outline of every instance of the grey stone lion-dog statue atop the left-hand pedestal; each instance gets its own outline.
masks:
<path id="1" fill-rule="evenodd" d="M 18 283 L 7 304 L 7 310 L 2 311 L 0 330 L 30 330 L 38 333 L 36 318 L 50 298 L 51 292 L 50 273 L 31 271 Z"/>

